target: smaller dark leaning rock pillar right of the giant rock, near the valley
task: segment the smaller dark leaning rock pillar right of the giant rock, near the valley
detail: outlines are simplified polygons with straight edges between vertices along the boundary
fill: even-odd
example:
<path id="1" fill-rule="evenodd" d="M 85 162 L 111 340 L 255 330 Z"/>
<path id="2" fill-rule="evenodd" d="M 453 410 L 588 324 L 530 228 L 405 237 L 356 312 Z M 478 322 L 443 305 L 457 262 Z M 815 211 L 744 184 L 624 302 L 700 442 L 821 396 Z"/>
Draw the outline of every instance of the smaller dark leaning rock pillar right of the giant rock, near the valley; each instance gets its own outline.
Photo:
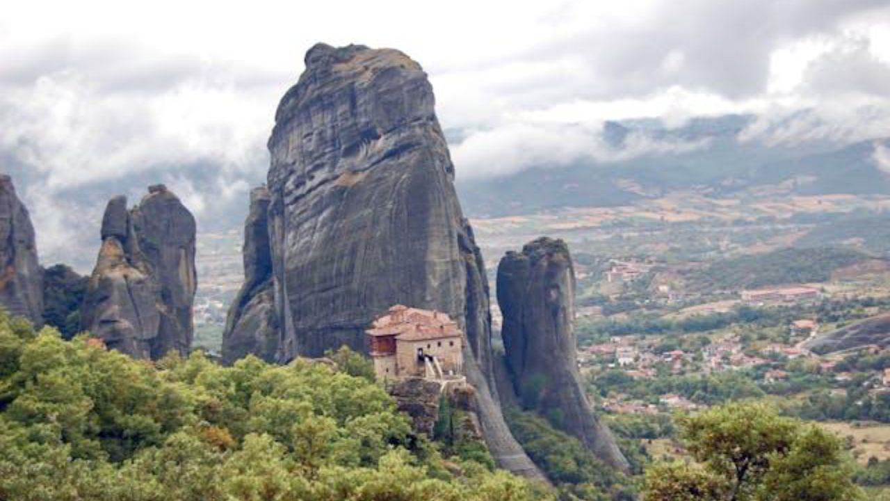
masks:
<path id="1" fill-rule="evenodd" d="M 627 471 L 611 431 L 593 414 L 581 385 L 574 324 L 575 274 L 562 240 L 540 238 L 507 252 L 498 266 L 506 365 L 516 398 Z"/>

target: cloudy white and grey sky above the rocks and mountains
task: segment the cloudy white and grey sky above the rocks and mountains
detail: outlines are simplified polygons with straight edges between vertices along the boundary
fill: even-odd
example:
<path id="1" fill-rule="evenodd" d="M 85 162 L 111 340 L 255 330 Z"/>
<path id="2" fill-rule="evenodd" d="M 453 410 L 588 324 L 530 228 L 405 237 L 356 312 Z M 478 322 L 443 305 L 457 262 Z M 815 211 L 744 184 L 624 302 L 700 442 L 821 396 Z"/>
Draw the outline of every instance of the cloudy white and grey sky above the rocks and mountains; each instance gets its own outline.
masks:
<path id="1" fill-rule="evenodd" d="M 101 210 L 139 196 L 134 179 L 170 185 L 204 226 L 223 205 L 246 211 L 275 107 L 316 42 L 420 62 L 471 181 L 608 160 L 606 119 L 753 113 L 741 139 L 766 144 L 890 136 L 886 0 L 0 0 L 0 12 L 0 171 L 22 178 L 50 254 L 101 218 L 71 193 Z"/>

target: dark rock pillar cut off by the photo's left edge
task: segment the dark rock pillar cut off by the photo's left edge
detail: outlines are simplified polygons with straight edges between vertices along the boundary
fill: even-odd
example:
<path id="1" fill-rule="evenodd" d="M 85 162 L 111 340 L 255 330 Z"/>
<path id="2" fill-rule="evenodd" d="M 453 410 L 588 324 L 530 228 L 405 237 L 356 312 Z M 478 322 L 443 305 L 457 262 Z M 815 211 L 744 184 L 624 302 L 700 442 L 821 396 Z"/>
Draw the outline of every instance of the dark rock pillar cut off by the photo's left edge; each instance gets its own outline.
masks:
<path id="1" fill-rule="evenodd" d="M 12 178 L 0 175 L 0 306 L 12 315 L 43 324 L 43 276 L 34 226 Z"/>

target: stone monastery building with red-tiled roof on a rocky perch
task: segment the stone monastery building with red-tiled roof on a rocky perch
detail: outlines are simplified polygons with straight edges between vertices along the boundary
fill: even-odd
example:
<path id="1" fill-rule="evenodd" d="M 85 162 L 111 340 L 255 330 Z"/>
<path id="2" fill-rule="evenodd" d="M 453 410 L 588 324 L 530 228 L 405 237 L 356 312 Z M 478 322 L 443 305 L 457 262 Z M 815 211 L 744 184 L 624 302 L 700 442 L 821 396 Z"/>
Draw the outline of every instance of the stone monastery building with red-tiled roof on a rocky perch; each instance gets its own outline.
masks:
<path id="1" fill-rule="evenodd" d="M 366 333 L 378 379 L 463 375 L 463 334 L 457 322 L 440 311 L 396 305 Z"/>

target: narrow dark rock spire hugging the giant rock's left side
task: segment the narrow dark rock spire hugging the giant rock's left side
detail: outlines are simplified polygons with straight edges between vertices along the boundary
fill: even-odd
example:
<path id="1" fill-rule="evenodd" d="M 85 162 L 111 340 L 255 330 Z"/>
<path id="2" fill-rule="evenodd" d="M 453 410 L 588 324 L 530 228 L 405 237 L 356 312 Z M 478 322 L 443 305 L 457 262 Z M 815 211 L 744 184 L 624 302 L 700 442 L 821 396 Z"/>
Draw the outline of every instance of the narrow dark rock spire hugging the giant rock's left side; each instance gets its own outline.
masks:
<path id="1" fill-rule="evenodd" d="M 223 331 L 223 361 L 233 363 L 252 353 L 267 362 L 279 359 L 279 328 L 272 290 L 269 247 L 269 190 L 250 193 L 244 225 L 244 284 L 229 309 Z"/>

